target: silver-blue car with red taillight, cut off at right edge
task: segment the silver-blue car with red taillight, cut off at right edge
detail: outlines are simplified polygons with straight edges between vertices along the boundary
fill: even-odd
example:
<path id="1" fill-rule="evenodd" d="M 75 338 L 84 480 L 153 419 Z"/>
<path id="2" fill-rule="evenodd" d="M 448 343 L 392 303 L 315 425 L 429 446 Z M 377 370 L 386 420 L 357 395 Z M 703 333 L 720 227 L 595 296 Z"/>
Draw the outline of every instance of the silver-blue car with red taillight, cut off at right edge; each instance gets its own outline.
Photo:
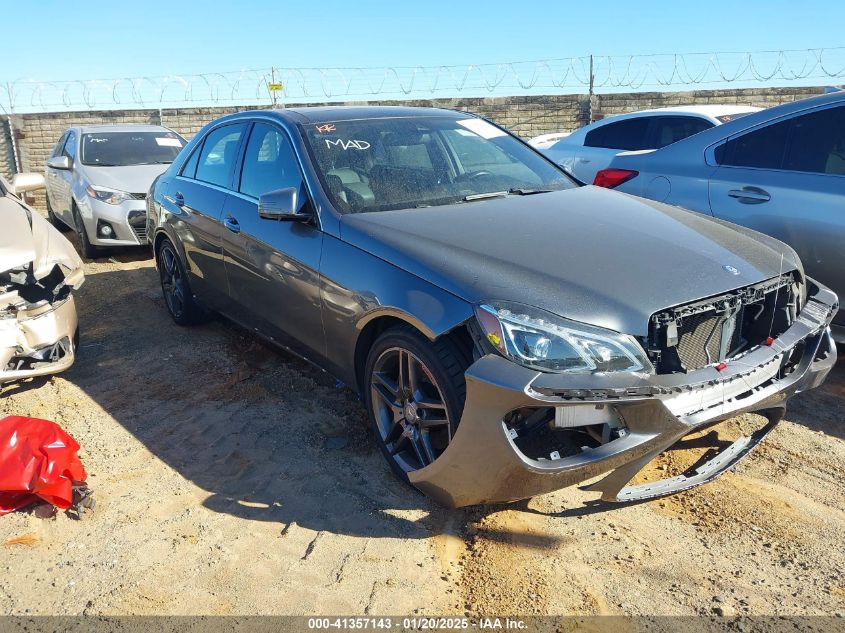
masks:
<path id="1" fill-rule="evenodd" d="M 596 183 L 772 235 L 798 252 L 810 276 L 845 293 L 845 92 L 619 154 Z M 845 314 L 833 334 L 845 343 Z"/>

